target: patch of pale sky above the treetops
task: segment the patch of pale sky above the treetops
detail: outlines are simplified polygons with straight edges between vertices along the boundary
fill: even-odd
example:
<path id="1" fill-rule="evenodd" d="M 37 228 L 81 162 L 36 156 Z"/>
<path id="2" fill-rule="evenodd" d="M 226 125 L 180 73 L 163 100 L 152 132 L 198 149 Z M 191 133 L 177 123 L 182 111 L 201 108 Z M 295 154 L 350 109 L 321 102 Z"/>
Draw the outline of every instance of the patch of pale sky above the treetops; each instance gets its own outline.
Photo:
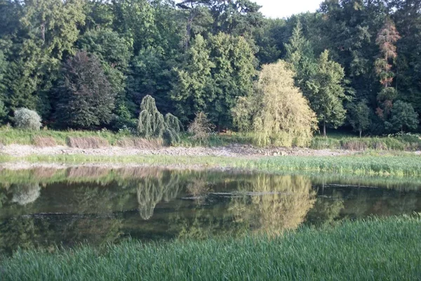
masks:
<path id="1" fill-rule="evenodd" d="M 268 18 L 288 18 L 296 13 L 314 12 L 322 0 L 254 0 Z"/>

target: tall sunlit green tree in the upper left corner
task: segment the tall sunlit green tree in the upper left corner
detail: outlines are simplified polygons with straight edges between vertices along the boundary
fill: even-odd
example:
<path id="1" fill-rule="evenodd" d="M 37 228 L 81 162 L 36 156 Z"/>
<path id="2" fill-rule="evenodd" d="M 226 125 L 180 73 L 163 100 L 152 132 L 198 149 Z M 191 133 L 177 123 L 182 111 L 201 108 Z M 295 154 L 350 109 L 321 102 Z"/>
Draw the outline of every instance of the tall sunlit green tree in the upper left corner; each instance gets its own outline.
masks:
<path id="1" fill-rule="evenodd" d="M 13 1 L 15 30 L 2 38 L 10 39 L 4 77 L 6 103 L 37 109 L 43 116 L 51 111 L 51 89 L 58 78 L 61 60 L 74 54 L 74 41 L 83 25 L 83 1 Z"/>

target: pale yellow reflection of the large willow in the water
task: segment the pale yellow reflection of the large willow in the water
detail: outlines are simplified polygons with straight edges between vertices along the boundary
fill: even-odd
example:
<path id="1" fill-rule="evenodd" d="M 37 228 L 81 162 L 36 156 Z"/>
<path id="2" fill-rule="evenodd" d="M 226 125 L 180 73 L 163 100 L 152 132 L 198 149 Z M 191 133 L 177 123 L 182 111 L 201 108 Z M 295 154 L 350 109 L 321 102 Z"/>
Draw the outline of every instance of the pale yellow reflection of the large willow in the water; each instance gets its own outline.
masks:
<path id="1" fill-rule="evenodd" d="M 295 229 L 312 209 L 316 192 L 304 176 L 255 176 L 241 188 L 246 197 L 232 200 L 234 221 L 249 223 L 253 232 L 279 235 Z M 252 192 L 248 192 L 252 190 Z"/>

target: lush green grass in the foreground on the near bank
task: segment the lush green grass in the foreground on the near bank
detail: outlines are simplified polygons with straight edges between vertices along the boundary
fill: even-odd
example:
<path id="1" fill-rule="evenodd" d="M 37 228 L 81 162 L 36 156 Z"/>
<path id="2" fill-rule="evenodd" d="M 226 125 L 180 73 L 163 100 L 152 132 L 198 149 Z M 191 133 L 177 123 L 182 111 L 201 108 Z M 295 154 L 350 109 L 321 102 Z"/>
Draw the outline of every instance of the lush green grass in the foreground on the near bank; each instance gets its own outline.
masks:
<path id="1" fill-rule="evenodd" d="M 18 251 L 2 280 L 418 280 L 421 219 L 373 218 L 282 237 Z"/>

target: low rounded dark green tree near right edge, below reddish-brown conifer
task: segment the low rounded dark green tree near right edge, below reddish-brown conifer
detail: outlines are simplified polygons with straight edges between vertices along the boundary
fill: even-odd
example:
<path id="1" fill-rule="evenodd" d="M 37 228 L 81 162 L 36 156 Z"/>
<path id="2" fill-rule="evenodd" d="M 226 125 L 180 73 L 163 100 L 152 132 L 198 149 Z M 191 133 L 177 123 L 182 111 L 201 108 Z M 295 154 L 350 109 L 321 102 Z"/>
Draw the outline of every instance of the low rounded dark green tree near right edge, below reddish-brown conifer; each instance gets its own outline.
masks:
<path id="1" fill-rule="evenodd" d="M 408 130 L 415 130 L 417 129 L 419 120 L 418 114 L 415 112 L 414 107 L 409 103 L 405 103 L 401 100 L 396 101 L 392 107 L 391 112 L 392 118 L 390 119 L 390 123 L 387 123 L 387 126 L 391 127 L 394 131 L 405 129 Z"/>

